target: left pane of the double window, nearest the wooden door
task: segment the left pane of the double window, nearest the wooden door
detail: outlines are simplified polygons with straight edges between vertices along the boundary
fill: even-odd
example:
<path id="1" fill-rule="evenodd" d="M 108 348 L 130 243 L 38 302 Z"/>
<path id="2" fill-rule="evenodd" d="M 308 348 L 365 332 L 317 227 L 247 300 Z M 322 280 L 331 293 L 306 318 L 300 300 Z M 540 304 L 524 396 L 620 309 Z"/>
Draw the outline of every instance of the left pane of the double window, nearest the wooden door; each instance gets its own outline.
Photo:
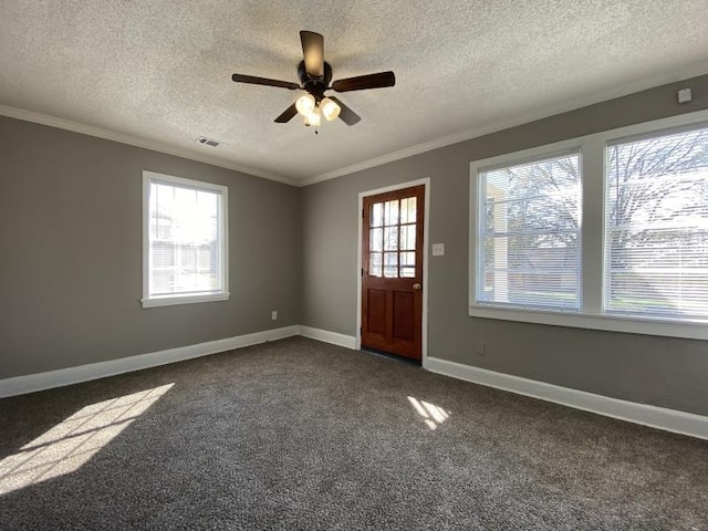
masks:
<path id="1" fill-rule="evenodd" d="M 477 302 L 580 310 L 577 150 L 479 173 Z"/>

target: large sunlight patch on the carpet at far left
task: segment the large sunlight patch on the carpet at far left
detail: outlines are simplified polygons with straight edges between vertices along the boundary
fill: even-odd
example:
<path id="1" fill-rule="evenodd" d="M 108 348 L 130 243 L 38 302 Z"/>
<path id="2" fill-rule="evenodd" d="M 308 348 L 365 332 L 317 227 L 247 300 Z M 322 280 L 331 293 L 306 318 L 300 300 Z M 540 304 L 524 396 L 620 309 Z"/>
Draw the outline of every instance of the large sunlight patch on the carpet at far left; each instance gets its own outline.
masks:
<path id="1" fill-rule="evenodd" d="M 175 384 L 86 406 L 0 461 L 0 494 L 73 472 Z"/>

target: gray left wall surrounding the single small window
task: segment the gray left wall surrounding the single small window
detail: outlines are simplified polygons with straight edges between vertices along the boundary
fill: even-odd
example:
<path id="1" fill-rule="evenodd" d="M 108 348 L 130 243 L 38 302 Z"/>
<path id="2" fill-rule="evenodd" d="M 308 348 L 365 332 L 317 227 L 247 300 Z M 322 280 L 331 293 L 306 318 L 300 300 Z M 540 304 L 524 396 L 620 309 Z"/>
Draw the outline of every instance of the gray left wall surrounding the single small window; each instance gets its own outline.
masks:
<path id="1" fill-rule="evenodd" d="M 143 169 L 229 187 L 229 301 L 142 308 Z M 0 117 L 0 378 L 298 324 L 300 196 Z"/>

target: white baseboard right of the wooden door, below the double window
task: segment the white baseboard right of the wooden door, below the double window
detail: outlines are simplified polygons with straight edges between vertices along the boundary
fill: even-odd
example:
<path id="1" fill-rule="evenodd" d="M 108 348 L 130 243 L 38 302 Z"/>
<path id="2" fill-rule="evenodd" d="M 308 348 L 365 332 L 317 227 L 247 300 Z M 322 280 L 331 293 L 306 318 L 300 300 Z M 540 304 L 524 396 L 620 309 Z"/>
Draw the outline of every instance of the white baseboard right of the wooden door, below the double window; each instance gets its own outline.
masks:
<path id="1" fill-rule="evenodd" d="M 554 402 L 629 423 L 708 439 L 708 417 L 676 409 L 610 398 L 583 391 L 521 378 L 485 368 L 428 357 L 425 368 L 454 378 Z"/>

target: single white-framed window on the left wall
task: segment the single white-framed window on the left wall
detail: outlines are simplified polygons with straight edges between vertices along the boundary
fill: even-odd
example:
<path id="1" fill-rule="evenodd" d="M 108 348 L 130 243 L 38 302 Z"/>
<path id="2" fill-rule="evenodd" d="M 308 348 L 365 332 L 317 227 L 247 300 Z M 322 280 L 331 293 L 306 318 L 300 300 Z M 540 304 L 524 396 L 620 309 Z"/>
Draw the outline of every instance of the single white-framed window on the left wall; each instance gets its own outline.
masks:
<path id="1" fill-rule="evenodd" d="M 143 185 L 143 306 L 227 300 L 227 188 L 152 171 Z"/>

